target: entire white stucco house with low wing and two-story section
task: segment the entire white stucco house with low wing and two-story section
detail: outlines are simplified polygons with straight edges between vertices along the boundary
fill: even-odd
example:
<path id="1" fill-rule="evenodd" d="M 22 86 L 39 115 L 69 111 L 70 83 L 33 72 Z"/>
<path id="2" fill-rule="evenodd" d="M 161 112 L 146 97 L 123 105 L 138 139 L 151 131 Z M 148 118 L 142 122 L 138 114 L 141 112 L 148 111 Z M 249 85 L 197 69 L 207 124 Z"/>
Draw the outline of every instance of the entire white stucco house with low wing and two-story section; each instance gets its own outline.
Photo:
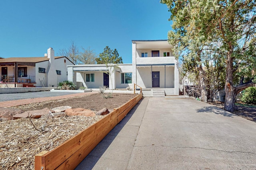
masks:
<path id="1" fill-rule="evenodd" d="M 132 40 L 132 64 L 110 64 L 116 67 L 110 66 L 110 70 L 105 64 L 68 65 L 68 80 L 78 87 L 133 89 L 137 84 L 148 95 L 154 90 L 179 95 L 178 67 L 172 52 L 167 40 Z"/>

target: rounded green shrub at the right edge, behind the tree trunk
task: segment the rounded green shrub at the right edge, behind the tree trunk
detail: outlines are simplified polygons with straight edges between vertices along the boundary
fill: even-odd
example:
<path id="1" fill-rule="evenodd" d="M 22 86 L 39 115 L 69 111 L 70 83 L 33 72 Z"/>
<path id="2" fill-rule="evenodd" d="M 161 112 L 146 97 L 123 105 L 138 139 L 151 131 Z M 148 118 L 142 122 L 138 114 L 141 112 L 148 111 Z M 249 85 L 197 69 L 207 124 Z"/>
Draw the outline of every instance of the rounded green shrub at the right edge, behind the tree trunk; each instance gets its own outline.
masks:
<path id="1" fill-rule="evenodd" d="M 256 104 L 256 87 L 248 87 L 242 92 L 241 101 L 246 104 Z"/>

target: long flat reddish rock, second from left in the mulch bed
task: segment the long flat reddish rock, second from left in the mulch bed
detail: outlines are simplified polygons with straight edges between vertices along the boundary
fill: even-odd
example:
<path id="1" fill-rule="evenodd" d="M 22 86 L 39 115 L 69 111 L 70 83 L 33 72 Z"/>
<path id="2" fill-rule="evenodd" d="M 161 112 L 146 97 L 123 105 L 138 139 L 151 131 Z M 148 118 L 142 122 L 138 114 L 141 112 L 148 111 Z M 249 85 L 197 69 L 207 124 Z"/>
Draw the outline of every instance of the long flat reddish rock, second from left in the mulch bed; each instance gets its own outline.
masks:
<path id="1" fill-rule="evenodd" d="M 30 117 L 34 119 L 40 118 L 42 115 L 47 115 L 49 113 L 50 109 L 44 108 L 41 110 L 32 110 L 32 111 L 25 111 L 20 114 L 16 114 L 13 116 L 13 119 L 19 119 L 19 118 L 28 118 L 28 114 Z"/>

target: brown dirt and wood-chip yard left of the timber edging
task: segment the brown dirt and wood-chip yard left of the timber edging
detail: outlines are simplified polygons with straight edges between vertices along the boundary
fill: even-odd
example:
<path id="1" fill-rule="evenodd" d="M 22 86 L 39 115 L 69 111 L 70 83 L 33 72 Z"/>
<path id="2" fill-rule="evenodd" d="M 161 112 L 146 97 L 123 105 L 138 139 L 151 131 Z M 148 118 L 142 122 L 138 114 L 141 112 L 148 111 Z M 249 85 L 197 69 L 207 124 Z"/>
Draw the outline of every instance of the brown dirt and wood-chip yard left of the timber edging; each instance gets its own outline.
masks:
<path id="1" fill-rule="evenodd" d="M 58 106 L 91 109 L 94 112 L 106 107 L 108 110 L 122 106 L 136 94 L 113 94 L 113 98 L 102 98 L 101 94 L 84 97 L 73 97 L 51 100 L 39 103 L 14 106 L 23 111 Z M 0 169 L 3 170 L 33 170 L 34 156 L 44 150 L 50 151 L 64 141 L 78 134 L 83 129 L 102 119 L 101 115 L 94 117 L 65 116 L 47 119 L 31 119 L 37 131 L 28 118 L 10 121 L 0 121 Z"/>

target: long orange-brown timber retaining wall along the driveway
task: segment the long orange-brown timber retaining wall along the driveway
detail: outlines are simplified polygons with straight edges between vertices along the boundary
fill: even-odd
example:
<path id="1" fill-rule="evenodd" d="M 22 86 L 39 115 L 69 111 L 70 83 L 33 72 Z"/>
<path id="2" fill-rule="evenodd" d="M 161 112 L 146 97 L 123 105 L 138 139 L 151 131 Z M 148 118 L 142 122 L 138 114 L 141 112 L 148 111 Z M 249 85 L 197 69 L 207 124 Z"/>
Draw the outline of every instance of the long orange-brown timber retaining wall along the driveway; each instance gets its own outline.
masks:
<path id="1" fill-rule="evenodd" d="M 35 170 L 70 170 L 76 168 L 140 99 L 142 99 L 142 94 L 114 109 L 106 117 L 84 129 L 84 131 L 55 149 L 36 154 Z"/>

